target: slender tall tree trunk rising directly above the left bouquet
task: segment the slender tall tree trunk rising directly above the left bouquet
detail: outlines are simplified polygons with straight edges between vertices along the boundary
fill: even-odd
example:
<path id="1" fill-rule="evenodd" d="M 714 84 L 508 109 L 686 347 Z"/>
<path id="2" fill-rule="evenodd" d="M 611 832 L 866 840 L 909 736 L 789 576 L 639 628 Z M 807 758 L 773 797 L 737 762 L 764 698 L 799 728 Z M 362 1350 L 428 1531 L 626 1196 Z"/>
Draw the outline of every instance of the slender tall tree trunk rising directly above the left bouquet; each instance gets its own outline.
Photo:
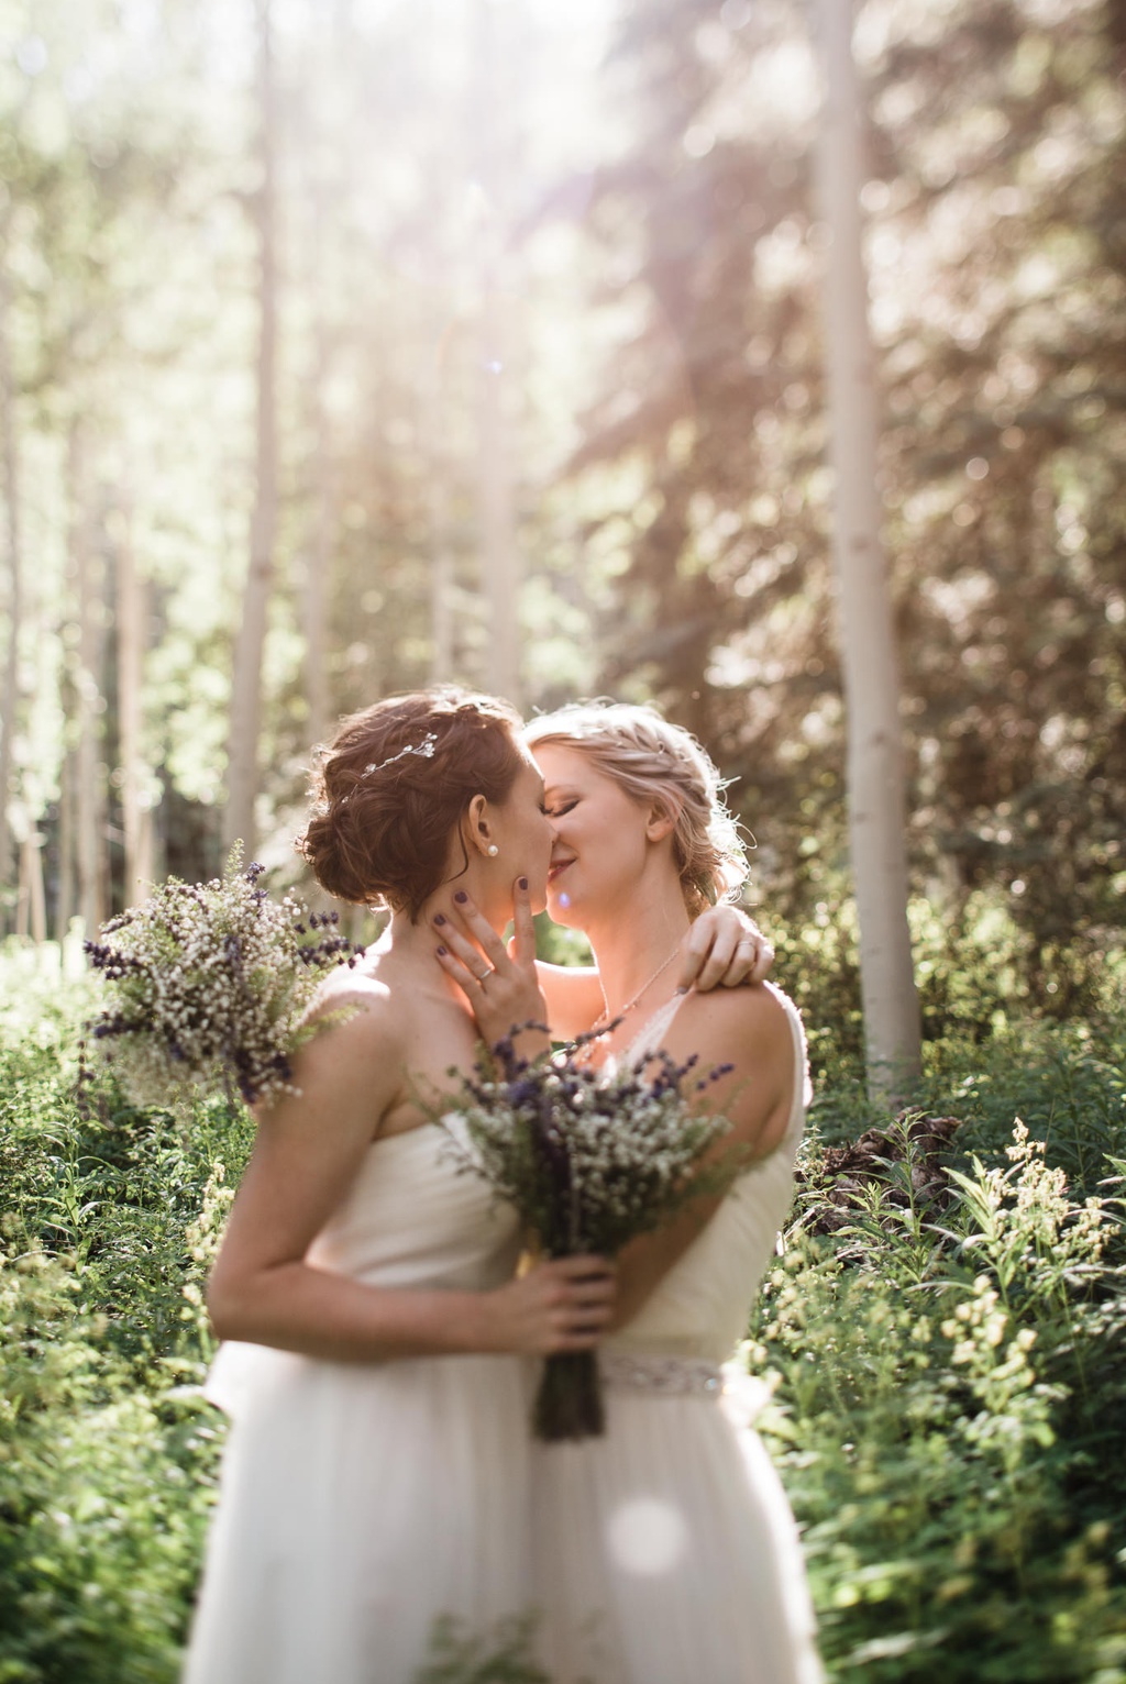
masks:
<path id="1" fill-rule="evenodd" d="M 266 642 L 266 610 L 273 584 L 273 544 L 278 519 L 276 441 L 276 94 L 273 86 L 273 37 L 270 0 L 256 0 L 258 15 L 258 101 L 260 162 L 258 192 L 258 426 L 255 451 L 255 509 L 249 532 L 249 568 L 243 593 L 243 620 L 234 647 L 231 684 L 231 731 L 228 739 L 228 805 L 224 834 L 228 847 L 243 840 L 249 855 L 256 844 L 255 802 L 258 797 L 258 738 L 261 731 L 261 657 Z"/>

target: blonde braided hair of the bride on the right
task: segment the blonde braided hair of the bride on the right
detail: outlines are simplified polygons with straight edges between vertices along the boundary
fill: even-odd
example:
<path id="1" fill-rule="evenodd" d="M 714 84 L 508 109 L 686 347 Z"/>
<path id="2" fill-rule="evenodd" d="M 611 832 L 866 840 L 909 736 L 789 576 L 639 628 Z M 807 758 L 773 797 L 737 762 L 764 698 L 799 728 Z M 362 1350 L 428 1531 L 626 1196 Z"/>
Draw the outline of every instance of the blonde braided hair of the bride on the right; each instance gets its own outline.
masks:
<path id="1" fill-rule="evenodd" d="M 533 719 L 524 741 L 533 754 L 548 743 L 576 749 L 641 807 L 664 808 L 673 818 L 673 857 L 691 918 L 747 881 L 747 849 L 711 756 L 656 707 L 571 702 Z"/>

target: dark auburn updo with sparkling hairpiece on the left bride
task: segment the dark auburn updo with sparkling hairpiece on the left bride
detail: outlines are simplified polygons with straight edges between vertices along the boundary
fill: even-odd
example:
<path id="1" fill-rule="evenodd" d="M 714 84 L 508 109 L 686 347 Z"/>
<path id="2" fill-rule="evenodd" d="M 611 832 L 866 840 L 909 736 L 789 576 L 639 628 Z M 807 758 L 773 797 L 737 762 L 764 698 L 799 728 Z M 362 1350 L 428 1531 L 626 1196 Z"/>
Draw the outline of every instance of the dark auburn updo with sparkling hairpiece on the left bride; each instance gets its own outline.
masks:
<path id="1" fill-rule="evenodd" d="M 524 765 L 519 729 L 507 702 L 452 685 L 342 719 L 317 749 L 312 813 L 295 844 L 317 882 L 340 901 L 408 911 L 416 923 L 448 877 L 450 842 L 474 795 L 494 803 L 511 795 Z"/>

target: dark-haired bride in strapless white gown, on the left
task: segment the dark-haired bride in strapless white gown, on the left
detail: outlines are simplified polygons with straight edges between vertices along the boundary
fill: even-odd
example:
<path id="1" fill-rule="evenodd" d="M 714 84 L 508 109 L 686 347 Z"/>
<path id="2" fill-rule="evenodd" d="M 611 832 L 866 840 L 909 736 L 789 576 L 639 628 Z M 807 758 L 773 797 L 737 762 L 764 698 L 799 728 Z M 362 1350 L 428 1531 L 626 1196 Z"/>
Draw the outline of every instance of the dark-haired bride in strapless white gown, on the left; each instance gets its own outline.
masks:
<path id="1" fill-rule="evenodd" d="M 597 972 L 536 967 L 555 834 L 519 731 L 504 702 L 420 692 L 344 721 L 322 758 L 302 852 L 391 919 L 325 987 L 324 1009 L 361 1009 L 302 1049 L 300 1095 L 258 1113 L 212 1271 L 209 1394 L 233 1426 L 185 1684 L 410 1684 L 438 1618 L 487 1633 L 533 1603 L 528 1357 L 597 1344 L 614 1271 L 517 1276 L 516 1214 L 457 1172 L 418 1100 L 450 1095 L 457 1132 L 465 994 L 501 1032 L 602 1002 Z M 733 983 L 755 963 L 727 909 L 668 975 Z"/>

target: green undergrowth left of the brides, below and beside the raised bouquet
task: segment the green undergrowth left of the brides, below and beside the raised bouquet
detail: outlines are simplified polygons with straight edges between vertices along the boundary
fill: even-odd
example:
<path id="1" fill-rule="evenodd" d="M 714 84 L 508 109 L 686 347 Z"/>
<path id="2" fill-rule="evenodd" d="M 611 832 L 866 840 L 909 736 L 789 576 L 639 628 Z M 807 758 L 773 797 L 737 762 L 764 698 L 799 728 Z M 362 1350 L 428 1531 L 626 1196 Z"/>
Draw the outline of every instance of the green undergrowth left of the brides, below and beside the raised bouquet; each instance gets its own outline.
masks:
<path id="1" fill-rule="evenodd" d="M 106 1081 L 79 1115 L 86 980 L 51 948 L 3 973 L 0 1679 L 172 1684 L 221 1440 L 202 1282 L 249 1125 Z"/>

